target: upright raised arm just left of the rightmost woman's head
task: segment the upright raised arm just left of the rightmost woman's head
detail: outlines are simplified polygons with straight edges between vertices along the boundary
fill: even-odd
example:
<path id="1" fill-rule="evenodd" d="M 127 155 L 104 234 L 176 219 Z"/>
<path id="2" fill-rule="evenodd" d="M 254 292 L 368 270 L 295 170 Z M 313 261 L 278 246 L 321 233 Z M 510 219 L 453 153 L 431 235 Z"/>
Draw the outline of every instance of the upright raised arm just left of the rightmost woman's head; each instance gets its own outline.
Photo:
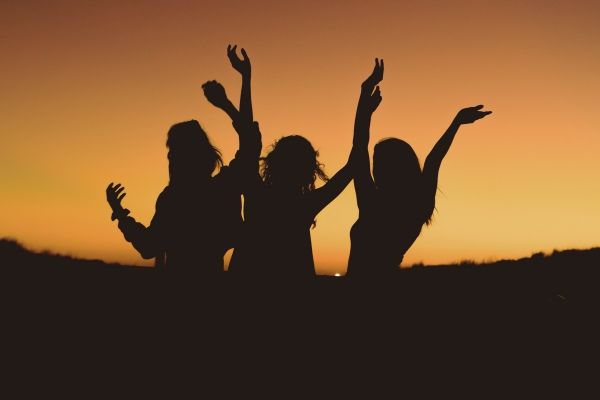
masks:
<path id="1" fill-rule="evenodd" d="M 375 59 L 371 75 L 363 82 L 354 119 L 354 140 L 351 157 L 353 159 L 354 190 L 358 208 L 365 206 L 375 192 L 371 176 L 369 139 L 371 117 L 379 103 L 381 92 L 377 84 L 383 80 L 383 60 Z"/>

